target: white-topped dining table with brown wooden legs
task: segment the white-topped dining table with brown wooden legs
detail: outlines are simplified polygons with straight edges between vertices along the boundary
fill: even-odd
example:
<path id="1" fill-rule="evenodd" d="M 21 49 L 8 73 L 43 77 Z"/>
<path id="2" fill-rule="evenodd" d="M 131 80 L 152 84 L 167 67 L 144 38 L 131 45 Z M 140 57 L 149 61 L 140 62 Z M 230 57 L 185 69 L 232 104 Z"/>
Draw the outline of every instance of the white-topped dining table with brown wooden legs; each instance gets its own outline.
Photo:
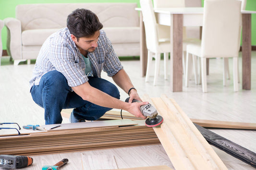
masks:
<path id="1" fill-rule="evenodd" d="M 140 8 L 135 10 L 141 11 Z M 183 91 L 183 26 L 203 26 L 203 7 L 154 9 L 157 23 L 171 26 L 171 91 Z M 242 13 L 242 88 L 251 89 L 251 14 Z M 140 12 L 140 62 L 142 76 L 146 75 L 147 49 L 142 12 Z"/>

